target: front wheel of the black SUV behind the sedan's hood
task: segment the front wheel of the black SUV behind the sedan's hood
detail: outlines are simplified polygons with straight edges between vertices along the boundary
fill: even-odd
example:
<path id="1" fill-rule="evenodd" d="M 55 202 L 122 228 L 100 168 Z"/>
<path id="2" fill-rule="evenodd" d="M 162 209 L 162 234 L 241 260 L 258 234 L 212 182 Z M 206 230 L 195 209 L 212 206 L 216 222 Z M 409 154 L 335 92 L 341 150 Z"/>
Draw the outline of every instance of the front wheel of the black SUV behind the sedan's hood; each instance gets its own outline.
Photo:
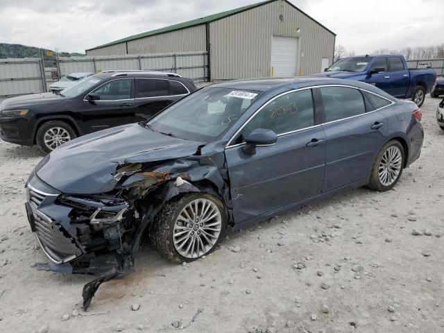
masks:
<path id="1" fill-rule="evenodd" d="M 76 137 L 76 132 L 69 124 L 56 120 L 48 121 L 40 126 L 35 135 L 35 142 L 43 153 L 48 154 Z"/>

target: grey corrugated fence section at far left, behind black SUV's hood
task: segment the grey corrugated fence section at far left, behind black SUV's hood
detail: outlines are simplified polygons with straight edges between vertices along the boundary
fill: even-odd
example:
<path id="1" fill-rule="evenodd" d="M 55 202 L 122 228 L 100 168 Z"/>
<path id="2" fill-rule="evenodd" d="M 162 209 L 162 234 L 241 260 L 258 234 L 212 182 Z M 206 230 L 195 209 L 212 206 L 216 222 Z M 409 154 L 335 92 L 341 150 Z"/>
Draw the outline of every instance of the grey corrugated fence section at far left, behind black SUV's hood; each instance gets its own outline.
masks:
<path id="1" fill-rule="evenodd" d="M 0 99 L 36 92 L 44 92 L 40 60 L 0 59 Z"/>

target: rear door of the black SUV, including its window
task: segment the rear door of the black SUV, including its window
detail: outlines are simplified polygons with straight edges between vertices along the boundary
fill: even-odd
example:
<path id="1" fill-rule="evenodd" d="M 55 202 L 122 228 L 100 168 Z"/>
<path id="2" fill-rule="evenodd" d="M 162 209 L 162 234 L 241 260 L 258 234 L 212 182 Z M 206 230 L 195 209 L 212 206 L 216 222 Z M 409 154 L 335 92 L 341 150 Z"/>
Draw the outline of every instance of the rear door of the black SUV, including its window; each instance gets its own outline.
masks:
<path id="1" fill-rule="evenodd" d="M 188 89 L 176 80 L 136 78 L 135 114 L 137 121 L 150 119 L 157 112 L 187 94 L 189 94 Z"/>

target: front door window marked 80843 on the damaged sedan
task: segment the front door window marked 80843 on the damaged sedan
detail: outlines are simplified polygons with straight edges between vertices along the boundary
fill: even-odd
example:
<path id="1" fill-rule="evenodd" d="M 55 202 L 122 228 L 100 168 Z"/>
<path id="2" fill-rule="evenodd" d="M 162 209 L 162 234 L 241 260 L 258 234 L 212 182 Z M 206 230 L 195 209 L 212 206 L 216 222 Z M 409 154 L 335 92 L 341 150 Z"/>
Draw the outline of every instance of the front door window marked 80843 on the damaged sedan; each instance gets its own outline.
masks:
<path id="1" fill-rule="evenodd" d="M 266 104 L 241 131 L 236 143 L 245 142 L 256 128 L 273 130 L 277 135 L 314 126 L 311 89 L 284 94 Z"/>

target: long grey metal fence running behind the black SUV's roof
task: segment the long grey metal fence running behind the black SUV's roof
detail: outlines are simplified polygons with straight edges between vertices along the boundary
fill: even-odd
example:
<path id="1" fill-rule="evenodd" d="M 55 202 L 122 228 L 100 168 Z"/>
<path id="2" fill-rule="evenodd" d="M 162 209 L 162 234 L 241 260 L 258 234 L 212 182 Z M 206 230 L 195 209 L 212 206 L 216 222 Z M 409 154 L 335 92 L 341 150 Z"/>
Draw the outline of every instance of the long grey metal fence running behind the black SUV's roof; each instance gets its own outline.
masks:
<path id="1" fill-rule="evenodd" d="M 196 81 L 205 81 L 208 77 L 206 52 L 58 58 L 60 76 L 87 71 L 99 73 L 110 69 L 169 71 Z"/>

